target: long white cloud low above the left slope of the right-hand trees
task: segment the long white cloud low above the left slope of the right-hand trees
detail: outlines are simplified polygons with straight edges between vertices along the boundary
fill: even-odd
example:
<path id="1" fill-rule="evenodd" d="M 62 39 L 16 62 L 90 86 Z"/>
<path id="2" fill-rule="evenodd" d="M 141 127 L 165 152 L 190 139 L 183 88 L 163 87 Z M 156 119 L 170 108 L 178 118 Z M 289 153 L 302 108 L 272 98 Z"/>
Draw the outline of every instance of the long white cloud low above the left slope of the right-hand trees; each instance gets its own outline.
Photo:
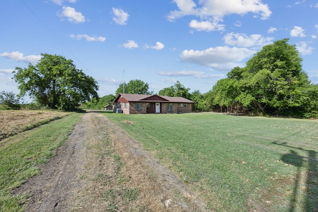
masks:
<path id="1" fill-rule="evenodd" d="M 247 48 L 219 46 L 203 51 L 184 50 L 180 54 L 180 59 L 185 63 L 194 63 L 224 70 L 230 67 L 241 66 L 241 64 L 238 65 L 238 62 L 252 56 L 254 53 L 256 51 Z"/>

